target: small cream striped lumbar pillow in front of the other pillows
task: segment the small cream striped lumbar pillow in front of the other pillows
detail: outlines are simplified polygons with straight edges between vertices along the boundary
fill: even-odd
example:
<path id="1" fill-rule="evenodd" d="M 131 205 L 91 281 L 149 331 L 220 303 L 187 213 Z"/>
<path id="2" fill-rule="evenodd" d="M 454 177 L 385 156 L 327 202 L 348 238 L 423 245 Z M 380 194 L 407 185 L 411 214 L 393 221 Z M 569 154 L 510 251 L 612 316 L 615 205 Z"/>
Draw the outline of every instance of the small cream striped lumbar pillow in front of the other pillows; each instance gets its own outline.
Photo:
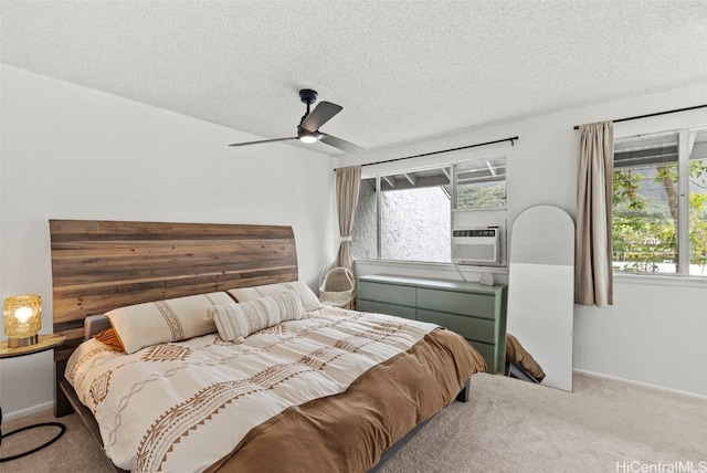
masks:
<path id="1" fill-rule="evenodd" d="M 305 308 L 296 291 L 253 301 L 213 305 L 207 317 L 212 317 L 221 339 L 241 343 L 249 335 L 285 320 L 305 317 Z"/>

